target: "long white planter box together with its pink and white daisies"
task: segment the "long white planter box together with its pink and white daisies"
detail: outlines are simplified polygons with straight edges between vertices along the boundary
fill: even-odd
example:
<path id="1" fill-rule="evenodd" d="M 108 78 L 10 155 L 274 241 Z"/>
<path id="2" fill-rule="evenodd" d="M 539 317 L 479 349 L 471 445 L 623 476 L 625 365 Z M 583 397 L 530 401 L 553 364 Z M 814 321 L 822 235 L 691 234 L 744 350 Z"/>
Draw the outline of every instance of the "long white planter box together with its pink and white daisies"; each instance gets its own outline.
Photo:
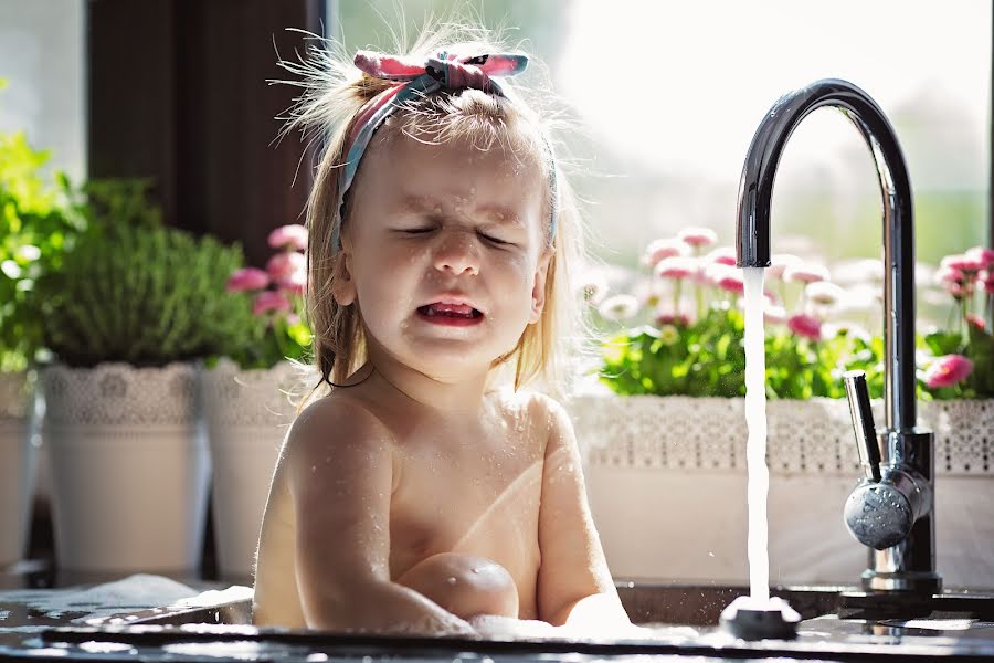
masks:
<path id="1" fill-rule="evenodd" d="M 618 575 L 748 578 L 743 284 L 734 253 L 713 241 L 709 230 L 688 229 L 649 245 L 645 271 L 622 288 L 631 292 L 606 296 L 596 280 L 588 286 L 606 340 L 599 388 L 571 409 L 590 450 L 592 507 Z M 919 423 L 935 433 L 938 550 L 950 585 L 994 586 L 994 567 L 977 552 L 994 527 L 967 515 L 976 495 L 994 494 L 992 257 L 973 249 L 943 261 L 935 283 L 953 295 L 958 314 L 918 340 Z M 866 371 L 882 428 L 884 341 L 866 330 L 881 308 L 882 269 L 878 261 L 837 267 L 838 283 L 811 260 L 775 255 L 765 271 L 774 581 L 853 581 L 865 568 L 865 549 L 840 517 L 860 473 L 842 373 Z M 670 507 L 646 517 L 632 508 L 646 503 Z M 631 546 L 633 536 L 646 544 Z"/>

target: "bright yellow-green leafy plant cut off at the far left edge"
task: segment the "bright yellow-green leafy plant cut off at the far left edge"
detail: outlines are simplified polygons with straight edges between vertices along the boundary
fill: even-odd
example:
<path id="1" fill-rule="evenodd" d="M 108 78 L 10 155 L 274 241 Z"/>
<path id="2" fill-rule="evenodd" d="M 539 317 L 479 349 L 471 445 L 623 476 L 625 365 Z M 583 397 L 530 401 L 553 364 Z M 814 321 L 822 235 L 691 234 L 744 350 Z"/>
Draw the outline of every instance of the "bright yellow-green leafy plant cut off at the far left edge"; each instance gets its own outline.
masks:
<path id="1" fill-rule="evenodd" d="M 83 227 L 65 176 L 43 177 L 47 161 L 23 131 L 0 133 L 0 371 L 23 370 L 42 349 L 39 288 Z"/>

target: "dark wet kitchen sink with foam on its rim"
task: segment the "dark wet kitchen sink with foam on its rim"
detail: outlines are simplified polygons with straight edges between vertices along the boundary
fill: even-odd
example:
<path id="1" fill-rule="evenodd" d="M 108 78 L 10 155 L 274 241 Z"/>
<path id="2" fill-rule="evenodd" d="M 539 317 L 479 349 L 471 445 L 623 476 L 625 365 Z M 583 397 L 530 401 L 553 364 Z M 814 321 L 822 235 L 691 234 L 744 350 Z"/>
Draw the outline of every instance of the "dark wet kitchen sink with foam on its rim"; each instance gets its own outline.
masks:
<path id="1" fill-rule="evenodd" d="M 994 594 L 970 591 L 947 592 L 928 601 L 895 602 L 852 587 L 774 588 L 771 593 L 790 602 L 804 620 L 797 638 L 744 642 L 717 627 L 721 610 L 748 593 L 747 588 L 737 586 L 618 582 L 630 615 L 646 630 L 612 640 L 474 640 L 256 629 L 251 625 L 248 588 L 241 589 L 236 600 L 230 600 L 233 594 L 228 593 L 229 600 L 203 601 L 197 608 L 131 610 L 88 622 L 93 624 L 88 627 L 44 622 L 20 639 L 17 633 L 0 633 L 0 657 L 11 652 L 25 655 L 28 650 L 55 649 L 68 654 L 101 653 L 104 659 L 115 659 L 117 653 L 121 657 L 125 653 L 138 654 L 149 661 L 170 660 L 178 654 L 269 661 L 414 656 L 446 663 L 473 657 L 556 660 L 563 654 L 578 662 L 635 654 L 822 661 L 994 656 Z M 0 604 L 0 609 L 7 608 Z M 3 625 L 0 623 L 0 632 Z"/>

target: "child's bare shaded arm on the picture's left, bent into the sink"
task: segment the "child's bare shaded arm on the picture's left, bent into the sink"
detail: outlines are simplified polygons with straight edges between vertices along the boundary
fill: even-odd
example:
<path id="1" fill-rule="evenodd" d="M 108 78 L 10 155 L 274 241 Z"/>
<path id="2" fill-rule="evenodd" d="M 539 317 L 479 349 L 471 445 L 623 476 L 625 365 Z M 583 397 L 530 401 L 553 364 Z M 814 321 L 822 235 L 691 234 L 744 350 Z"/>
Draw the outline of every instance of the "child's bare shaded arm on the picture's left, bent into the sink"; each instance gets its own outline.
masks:
<path id="1" fill-rule="evenodd" d="M 294 422 L 286 454 L 308 628 L 474 632 L 423 594 L 391 582 L 392 438 L 376 417 L 341 400 L 315 403 Z"/>

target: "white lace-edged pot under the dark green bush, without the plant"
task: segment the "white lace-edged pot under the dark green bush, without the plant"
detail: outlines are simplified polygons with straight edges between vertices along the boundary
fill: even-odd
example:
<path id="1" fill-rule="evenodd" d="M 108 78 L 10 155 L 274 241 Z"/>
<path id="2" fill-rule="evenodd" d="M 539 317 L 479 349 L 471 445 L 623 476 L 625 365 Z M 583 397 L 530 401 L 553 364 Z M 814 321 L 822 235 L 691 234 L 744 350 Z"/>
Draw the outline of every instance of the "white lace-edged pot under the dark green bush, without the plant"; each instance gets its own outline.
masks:
<path id="1" fill-rule="evenodd" d="M 199 568 L 210 459 L 197 425 L 197 381 L 192 364 L 44 371 L 60 569 Z"/>

